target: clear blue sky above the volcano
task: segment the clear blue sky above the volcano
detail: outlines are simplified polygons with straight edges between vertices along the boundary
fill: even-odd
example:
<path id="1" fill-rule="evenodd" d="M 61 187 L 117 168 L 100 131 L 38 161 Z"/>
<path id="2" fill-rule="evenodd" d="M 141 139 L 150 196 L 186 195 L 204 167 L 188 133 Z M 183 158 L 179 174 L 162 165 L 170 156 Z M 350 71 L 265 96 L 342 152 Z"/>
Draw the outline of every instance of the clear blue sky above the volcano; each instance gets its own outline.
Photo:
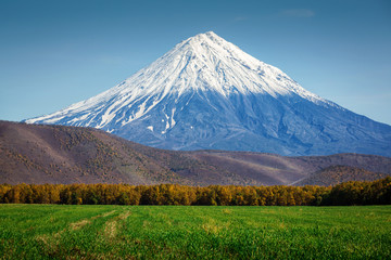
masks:
<path id="1" fill-rule="evenodd" d="M 0 119 L 49 114 L 209 30 L 391 125 L 391 1 L 1 0 Z"/>

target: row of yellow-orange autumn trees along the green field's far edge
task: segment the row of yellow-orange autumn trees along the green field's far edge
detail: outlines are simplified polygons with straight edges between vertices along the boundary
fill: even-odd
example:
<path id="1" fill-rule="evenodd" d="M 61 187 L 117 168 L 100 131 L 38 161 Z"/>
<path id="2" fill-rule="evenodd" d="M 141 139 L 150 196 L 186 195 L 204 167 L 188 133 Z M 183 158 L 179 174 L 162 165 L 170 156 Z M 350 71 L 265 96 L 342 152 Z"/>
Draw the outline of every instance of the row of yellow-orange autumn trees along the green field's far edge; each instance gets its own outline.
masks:
<path id="1" fill-rule="evenodd" d="M 1 204 L 323 206 L 391 204 L 391 177 L 335 186 L 0 184 Z"/>

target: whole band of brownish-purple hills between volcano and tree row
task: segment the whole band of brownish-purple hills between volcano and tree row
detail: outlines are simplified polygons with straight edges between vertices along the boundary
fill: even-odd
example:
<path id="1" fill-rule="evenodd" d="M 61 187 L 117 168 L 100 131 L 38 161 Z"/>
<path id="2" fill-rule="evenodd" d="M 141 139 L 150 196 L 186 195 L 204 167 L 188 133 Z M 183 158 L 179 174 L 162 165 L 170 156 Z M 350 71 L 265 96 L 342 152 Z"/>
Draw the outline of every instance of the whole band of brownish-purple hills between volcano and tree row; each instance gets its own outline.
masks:
<path id="1" fill-rule="evenodd" d="M 337 165 L 391 174 L 391 158 L 375 155 L 164 151 L 92 128 L 0 121 L 0 183 L 280 185 Z"/>

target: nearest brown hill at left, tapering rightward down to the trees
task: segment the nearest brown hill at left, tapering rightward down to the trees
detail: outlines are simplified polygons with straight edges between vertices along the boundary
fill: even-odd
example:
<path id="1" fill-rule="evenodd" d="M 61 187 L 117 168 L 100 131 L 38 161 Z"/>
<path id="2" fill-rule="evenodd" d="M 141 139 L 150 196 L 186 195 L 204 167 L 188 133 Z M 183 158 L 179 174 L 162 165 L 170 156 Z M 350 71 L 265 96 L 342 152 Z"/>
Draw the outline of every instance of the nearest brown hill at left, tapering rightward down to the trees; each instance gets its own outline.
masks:
<path id="1" fill-rule="evenodd" d="M 0 183 L 261 184 L 92 128 L 0 121 Z"/>

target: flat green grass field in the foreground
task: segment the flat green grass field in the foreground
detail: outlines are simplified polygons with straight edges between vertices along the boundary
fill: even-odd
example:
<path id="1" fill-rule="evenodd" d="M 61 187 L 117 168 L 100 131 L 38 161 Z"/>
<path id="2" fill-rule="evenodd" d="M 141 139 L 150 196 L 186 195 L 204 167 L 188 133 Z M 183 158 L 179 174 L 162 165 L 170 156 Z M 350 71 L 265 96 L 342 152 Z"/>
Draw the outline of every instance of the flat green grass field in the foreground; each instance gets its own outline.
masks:
<path id="1" fill-rule="evenodd" d="M 0 205 L 0 259 L 389 259 L 391 206 Z"/>

